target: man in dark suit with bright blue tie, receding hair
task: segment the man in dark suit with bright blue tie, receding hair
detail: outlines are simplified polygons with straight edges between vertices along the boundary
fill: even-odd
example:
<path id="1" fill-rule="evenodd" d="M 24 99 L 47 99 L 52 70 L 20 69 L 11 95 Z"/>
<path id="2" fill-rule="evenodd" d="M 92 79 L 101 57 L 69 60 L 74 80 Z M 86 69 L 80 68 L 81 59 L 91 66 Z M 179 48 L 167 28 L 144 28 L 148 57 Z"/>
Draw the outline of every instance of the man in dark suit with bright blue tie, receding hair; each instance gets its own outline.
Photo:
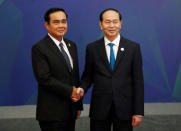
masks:
<path id="1" fill-rule="evenodd" d="M 100 14 L 104 38 L 86 49 L 81 88 L 94 85 L 90 103 L 91 131 L 132 131 L 144 115 L 144 82 L 139 44 L 119 31 L 121 14 L 106 9 Z"/>

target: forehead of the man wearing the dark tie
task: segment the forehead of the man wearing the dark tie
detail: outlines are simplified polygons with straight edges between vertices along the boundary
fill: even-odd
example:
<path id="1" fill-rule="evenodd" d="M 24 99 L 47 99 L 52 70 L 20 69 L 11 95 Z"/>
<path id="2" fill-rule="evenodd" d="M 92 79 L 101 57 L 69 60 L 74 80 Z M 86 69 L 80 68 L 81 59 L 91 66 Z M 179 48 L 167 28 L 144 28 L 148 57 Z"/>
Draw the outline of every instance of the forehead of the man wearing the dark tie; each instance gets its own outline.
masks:
<path id="1" fill-rule="evenodd" d="M 63 11 L 57 11 L 50 14 L 50 20 L 62 20 L 67 19 Z"/>

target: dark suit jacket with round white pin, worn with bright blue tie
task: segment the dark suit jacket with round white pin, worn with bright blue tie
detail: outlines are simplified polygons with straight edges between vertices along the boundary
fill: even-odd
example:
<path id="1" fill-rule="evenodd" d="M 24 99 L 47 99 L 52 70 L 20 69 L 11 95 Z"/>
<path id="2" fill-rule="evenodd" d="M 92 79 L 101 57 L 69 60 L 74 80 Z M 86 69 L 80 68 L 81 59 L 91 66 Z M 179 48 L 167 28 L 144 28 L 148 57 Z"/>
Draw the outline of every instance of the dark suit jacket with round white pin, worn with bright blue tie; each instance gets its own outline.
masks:
<path id="1" fill-rule="evenodd" d="M 121 37 L 114 70 L 107 59 L 104 38 L 89 44 L 81 80 L 85 92 L 91 83 L 90 118 L 106 119 L 113 103 L 120 120 L 144 115 L 142 57 L 137 43 Z"/>

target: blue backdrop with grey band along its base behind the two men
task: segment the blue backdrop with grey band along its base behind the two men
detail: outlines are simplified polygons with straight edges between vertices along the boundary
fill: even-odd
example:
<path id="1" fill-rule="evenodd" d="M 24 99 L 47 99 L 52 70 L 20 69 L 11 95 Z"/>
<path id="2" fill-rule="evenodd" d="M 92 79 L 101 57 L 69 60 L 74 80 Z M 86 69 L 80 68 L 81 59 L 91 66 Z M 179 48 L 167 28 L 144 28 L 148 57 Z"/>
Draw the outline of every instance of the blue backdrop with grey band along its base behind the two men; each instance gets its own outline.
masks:
<path id="1" fill-rule="evenodd" d="M 141 46 L 145 112 L 180 113 L 180 0 L 0 0 L 0 119 L 19 117 L 13 110 L 21 110 L 24 117 L 28 110 L 34 118 L 37 83 L 32 72 L 31 47 L 47 34 L 44 13 L 52 7 L 64 8 L 68 13 L 65 37 L 77 44 L 80 74 L 86 45 L 103 36 L 99 14 L 106 8 L 119 10 L 123 16 L 120 34 Z M 84 97 L 85 114 L 90 93 L 91 90 Z"/>

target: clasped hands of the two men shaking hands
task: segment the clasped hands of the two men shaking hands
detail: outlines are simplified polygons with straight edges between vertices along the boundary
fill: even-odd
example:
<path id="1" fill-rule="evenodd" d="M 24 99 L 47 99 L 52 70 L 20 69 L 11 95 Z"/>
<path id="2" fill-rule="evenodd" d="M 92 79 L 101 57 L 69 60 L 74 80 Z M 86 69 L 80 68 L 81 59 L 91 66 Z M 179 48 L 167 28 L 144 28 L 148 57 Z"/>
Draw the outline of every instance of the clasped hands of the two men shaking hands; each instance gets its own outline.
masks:
<path id="1" fill-rule="evenodd" d="M 73 91 L 72 91 L 72 95 L 70 96 L 71 100 L 73 102 L 77 102 L 78 100 L 80 100 L 84 95 L 84 90 L 80 87 L 76 88 L 75 86 L 73 86 Z"/>

